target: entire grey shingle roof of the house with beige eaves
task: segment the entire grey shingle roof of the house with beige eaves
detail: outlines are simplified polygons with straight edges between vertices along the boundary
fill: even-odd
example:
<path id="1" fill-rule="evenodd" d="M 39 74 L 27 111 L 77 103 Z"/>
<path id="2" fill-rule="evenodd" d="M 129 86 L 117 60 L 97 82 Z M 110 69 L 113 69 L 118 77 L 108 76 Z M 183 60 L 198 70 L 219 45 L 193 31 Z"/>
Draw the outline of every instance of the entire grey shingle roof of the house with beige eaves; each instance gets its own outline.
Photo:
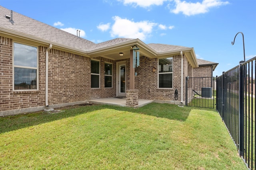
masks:
<path id="1" fill-rule="evenodd" d="M 11 16 L 10 12 L 10 10 L 0 6 L 0 32 L 7 35 L 37 41 L 46 44 L 46 46 L 52 44 L 53 47 L 82 53 L 88 57 L 102 56 L 115 60 L 121 59 L 120 52 L 124 53 L 123 57 L 130 56 L 132 45 L 138 45 L 141 55 L 151 58 L 178 55 L 180 51 L 183 51 L 191 65 L 198 67 L 193 48 L 154 43 L 147 45 L 139 39 L 129 38 L 116 38 L 96 44 L 16 12 L 12 13 L 13 20 L 9 20 L 5 16 Z"/>

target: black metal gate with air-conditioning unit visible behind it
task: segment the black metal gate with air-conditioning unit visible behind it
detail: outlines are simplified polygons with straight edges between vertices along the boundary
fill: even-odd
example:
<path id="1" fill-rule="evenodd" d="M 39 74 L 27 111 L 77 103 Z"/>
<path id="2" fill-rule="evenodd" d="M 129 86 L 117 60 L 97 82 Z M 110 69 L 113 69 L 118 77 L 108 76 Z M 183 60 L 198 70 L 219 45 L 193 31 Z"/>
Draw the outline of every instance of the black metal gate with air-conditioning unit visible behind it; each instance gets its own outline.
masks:
<path id="1" fill-rule="evenodd" d="M 214 108 L 214 77 L 186 77 L 186 106 Z"/>

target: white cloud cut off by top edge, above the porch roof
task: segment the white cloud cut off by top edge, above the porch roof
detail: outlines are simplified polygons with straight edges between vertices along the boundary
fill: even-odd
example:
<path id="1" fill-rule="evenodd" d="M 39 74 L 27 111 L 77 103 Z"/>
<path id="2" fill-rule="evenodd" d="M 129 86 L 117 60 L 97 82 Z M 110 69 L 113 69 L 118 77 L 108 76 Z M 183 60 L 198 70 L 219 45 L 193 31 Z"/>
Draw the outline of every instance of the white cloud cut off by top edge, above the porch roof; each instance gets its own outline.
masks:
<path id="1" fill-rule="evenodd" d="M 149 6 L 152 5 L 162 5 L 164 3 L 164 1 L 167 0 L 118 0 L 120 2 L 124 2 L 124 5 L 134 5 L 136 6 L 140 6 L 142 8 L 147 8 Z"/>

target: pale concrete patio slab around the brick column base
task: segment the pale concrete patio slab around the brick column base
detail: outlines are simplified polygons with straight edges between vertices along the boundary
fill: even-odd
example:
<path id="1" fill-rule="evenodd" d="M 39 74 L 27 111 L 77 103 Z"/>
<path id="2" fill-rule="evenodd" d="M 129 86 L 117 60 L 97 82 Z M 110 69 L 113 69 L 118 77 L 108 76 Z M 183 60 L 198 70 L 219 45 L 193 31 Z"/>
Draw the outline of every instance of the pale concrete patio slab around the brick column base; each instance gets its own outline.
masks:
<path id="1" fill-rule="evenodd" d="M 88 100 L 88 102 L 94 103 L 94 104 L 108 104 L 108 105 L 128 107 L 126 105 L 126 98 L 101 98 L 101 99 Z M 136 107 L 142 107 L 152 102 L 153 100 L 139 99 L 138 105 Z"/>

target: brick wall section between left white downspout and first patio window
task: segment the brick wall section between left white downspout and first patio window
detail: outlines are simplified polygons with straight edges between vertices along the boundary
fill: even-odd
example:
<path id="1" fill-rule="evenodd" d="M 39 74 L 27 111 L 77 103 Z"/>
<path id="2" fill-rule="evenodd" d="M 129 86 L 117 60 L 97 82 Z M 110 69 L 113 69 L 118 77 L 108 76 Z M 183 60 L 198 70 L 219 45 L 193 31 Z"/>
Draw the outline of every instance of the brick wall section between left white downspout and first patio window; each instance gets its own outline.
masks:
<path id="1" fill-rule="evenodd" d="M 88 100 L 90 58 L 51 49 L 48 65 L 49 105 Z"/>

